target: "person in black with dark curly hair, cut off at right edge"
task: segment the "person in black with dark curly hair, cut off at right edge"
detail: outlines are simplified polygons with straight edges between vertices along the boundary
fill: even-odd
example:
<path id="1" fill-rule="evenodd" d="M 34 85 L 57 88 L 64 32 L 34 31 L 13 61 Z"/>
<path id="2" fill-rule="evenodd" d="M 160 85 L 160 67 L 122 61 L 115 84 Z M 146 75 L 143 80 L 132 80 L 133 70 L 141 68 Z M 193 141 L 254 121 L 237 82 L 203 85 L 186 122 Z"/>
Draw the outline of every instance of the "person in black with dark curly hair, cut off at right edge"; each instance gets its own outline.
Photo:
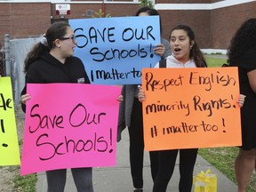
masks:
<path id="1" fill-rule="evenodd" d="M 228 64 L 238 67 L 240 92 L 246 95 L 241 109 L 242 146 L 236 157 L 237 192 L 245 192 L 256 162 L 256 19 L 245 20 L 228 47 Z"/>

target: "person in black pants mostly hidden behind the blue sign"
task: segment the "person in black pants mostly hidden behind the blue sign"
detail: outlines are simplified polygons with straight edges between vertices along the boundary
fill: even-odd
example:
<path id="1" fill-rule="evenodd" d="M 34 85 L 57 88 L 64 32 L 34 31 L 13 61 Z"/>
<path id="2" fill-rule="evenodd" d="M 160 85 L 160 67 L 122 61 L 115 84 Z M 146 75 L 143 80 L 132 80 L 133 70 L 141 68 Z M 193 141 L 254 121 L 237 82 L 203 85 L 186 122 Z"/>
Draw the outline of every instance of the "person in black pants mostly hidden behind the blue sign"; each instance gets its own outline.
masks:
<path id="1" fill-rule="evenodd" d="M 149 7 L 142 7 L 136 16 L 159 15 L 159 13 Z M 160 20 L 161 28 L 161 20 Z M 162 58 L 172 54 L 170 44 L 162 38 L 161 44 L 156 44 L 154 53 L 161 55 Z M 118 138 L 121 140 L 121 132 L 128 127 L 130 137 L 130 165 L 132 173 L 132 183 L 134 191 L 143 191 L 143 157 L 144 157 L 144 139 L 143 139 L 143 123 L 142 123 L 142 105 L 138 100 L 138 84 L 124 85 L 122 95 L 124 101 L 120 103 Z M 149 152 L 150 167 L 152 179 L 155 180 L 158 169 L 157 152 Z"/>

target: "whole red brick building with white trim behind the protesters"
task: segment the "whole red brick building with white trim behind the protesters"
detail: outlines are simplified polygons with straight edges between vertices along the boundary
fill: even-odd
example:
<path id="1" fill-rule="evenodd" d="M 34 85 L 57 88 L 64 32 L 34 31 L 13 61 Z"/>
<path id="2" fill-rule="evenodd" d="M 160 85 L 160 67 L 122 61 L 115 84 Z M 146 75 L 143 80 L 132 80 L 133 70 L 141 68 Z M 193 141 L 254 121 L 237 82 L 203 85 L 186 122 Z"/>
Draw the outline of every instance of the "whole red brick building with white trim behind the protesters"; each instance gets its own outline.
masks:
<path id="1" fill-rule="evenodd" d="M 161 14 L 163 36 L 177 24 L 194 29 L 204 49 L 227 49 L 230 38 L 244 20 L 256 18 L 256 0 L 153 0 Z M 57 14 L 56 4 L 68 4 L 70 14 Z M 91 18 L 100 9 L 115 16 L 132 16 L 139 0 L 1 0 L 0 42 L 12 38 L 40 36 L 56 20 Z"/>

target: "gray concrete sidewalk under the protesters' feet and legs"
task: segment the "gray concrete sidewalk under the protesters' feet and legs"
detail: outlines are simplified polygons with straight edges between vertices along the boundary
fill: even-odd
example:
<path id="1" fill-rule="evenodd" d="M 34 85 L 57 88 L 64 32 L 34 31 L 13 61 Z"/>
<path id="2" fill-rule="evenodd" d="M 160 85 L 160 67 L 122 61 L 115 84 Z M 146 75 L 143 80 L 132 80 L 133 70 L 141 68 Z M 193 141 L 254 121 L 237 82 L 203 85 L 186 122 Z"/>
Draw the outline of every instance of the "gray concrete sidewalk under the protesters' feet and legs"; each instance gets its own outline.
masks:
<path id="1" fill-rule="evenodd" d="M 129 164 L 129 136 L 127 129 L 122 133 L 122 140 L 117 143 L 116 167 L 94 168 L 93 169 L 93 188 L 95 192 L 132 192 L 132 178 Z M 179 161 L 176 163 L 172 180 L 166 192 L 178 192 L 178 183 L 180 179 Z M 234 192 L 236 184 L 215 169 L 211 164 L 206 162 L 201 156 L 197 156 L 194 175 L 197 172 L 211 169 L 212 173 L 217 173 L 218 192 Z M 36 192 L 46 192 L 46 178 L 44 172 L 37 174 L 38 181 L 36 183 Z M 145 152 L 144 157 L 144 192 L 151 192 L 153 183 L 150 175 L 149 156 Z M 67 184 L 65 192 L 75 192 L 71 173 L 68 170 Z M 193 191 L 193 190 L 192 190 Z"/>

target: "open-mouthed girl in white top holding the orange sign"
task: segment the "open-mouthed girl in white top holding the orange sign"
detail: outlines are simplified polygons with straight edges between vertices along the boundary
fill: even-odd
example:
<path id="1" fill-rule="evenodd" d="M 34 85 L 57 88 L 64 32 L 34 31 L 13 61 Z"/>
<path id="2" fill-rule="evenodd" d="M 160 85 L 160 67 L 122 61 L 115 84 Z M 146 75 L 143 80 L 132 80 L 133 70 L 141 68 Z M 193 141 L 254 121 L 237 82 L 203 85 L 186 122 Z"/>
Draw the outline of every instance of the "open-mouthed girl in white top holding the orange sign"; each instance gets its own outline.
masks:
<path id="1" fill-rule="evenodd" d="M 166 68 L 206 68 L 204 55 L 196 44 L 193 30 L 186 25 L 172 28 L 169 36 L 172 55 L 166 58 Z M 159 68 L 159 63 L 156 64 Z M 145 92 L 140 90 L 139 100 L 145 100 Z M 244 103 L 244 97 L 238 100 Z M 175 167 L 178 152 L 180 153 L 180 192 L 191 192 L 193 172 L 198 148 L 170 149 L 159 151 L 159 168 L 153 192 L 165 192 Z"/>

